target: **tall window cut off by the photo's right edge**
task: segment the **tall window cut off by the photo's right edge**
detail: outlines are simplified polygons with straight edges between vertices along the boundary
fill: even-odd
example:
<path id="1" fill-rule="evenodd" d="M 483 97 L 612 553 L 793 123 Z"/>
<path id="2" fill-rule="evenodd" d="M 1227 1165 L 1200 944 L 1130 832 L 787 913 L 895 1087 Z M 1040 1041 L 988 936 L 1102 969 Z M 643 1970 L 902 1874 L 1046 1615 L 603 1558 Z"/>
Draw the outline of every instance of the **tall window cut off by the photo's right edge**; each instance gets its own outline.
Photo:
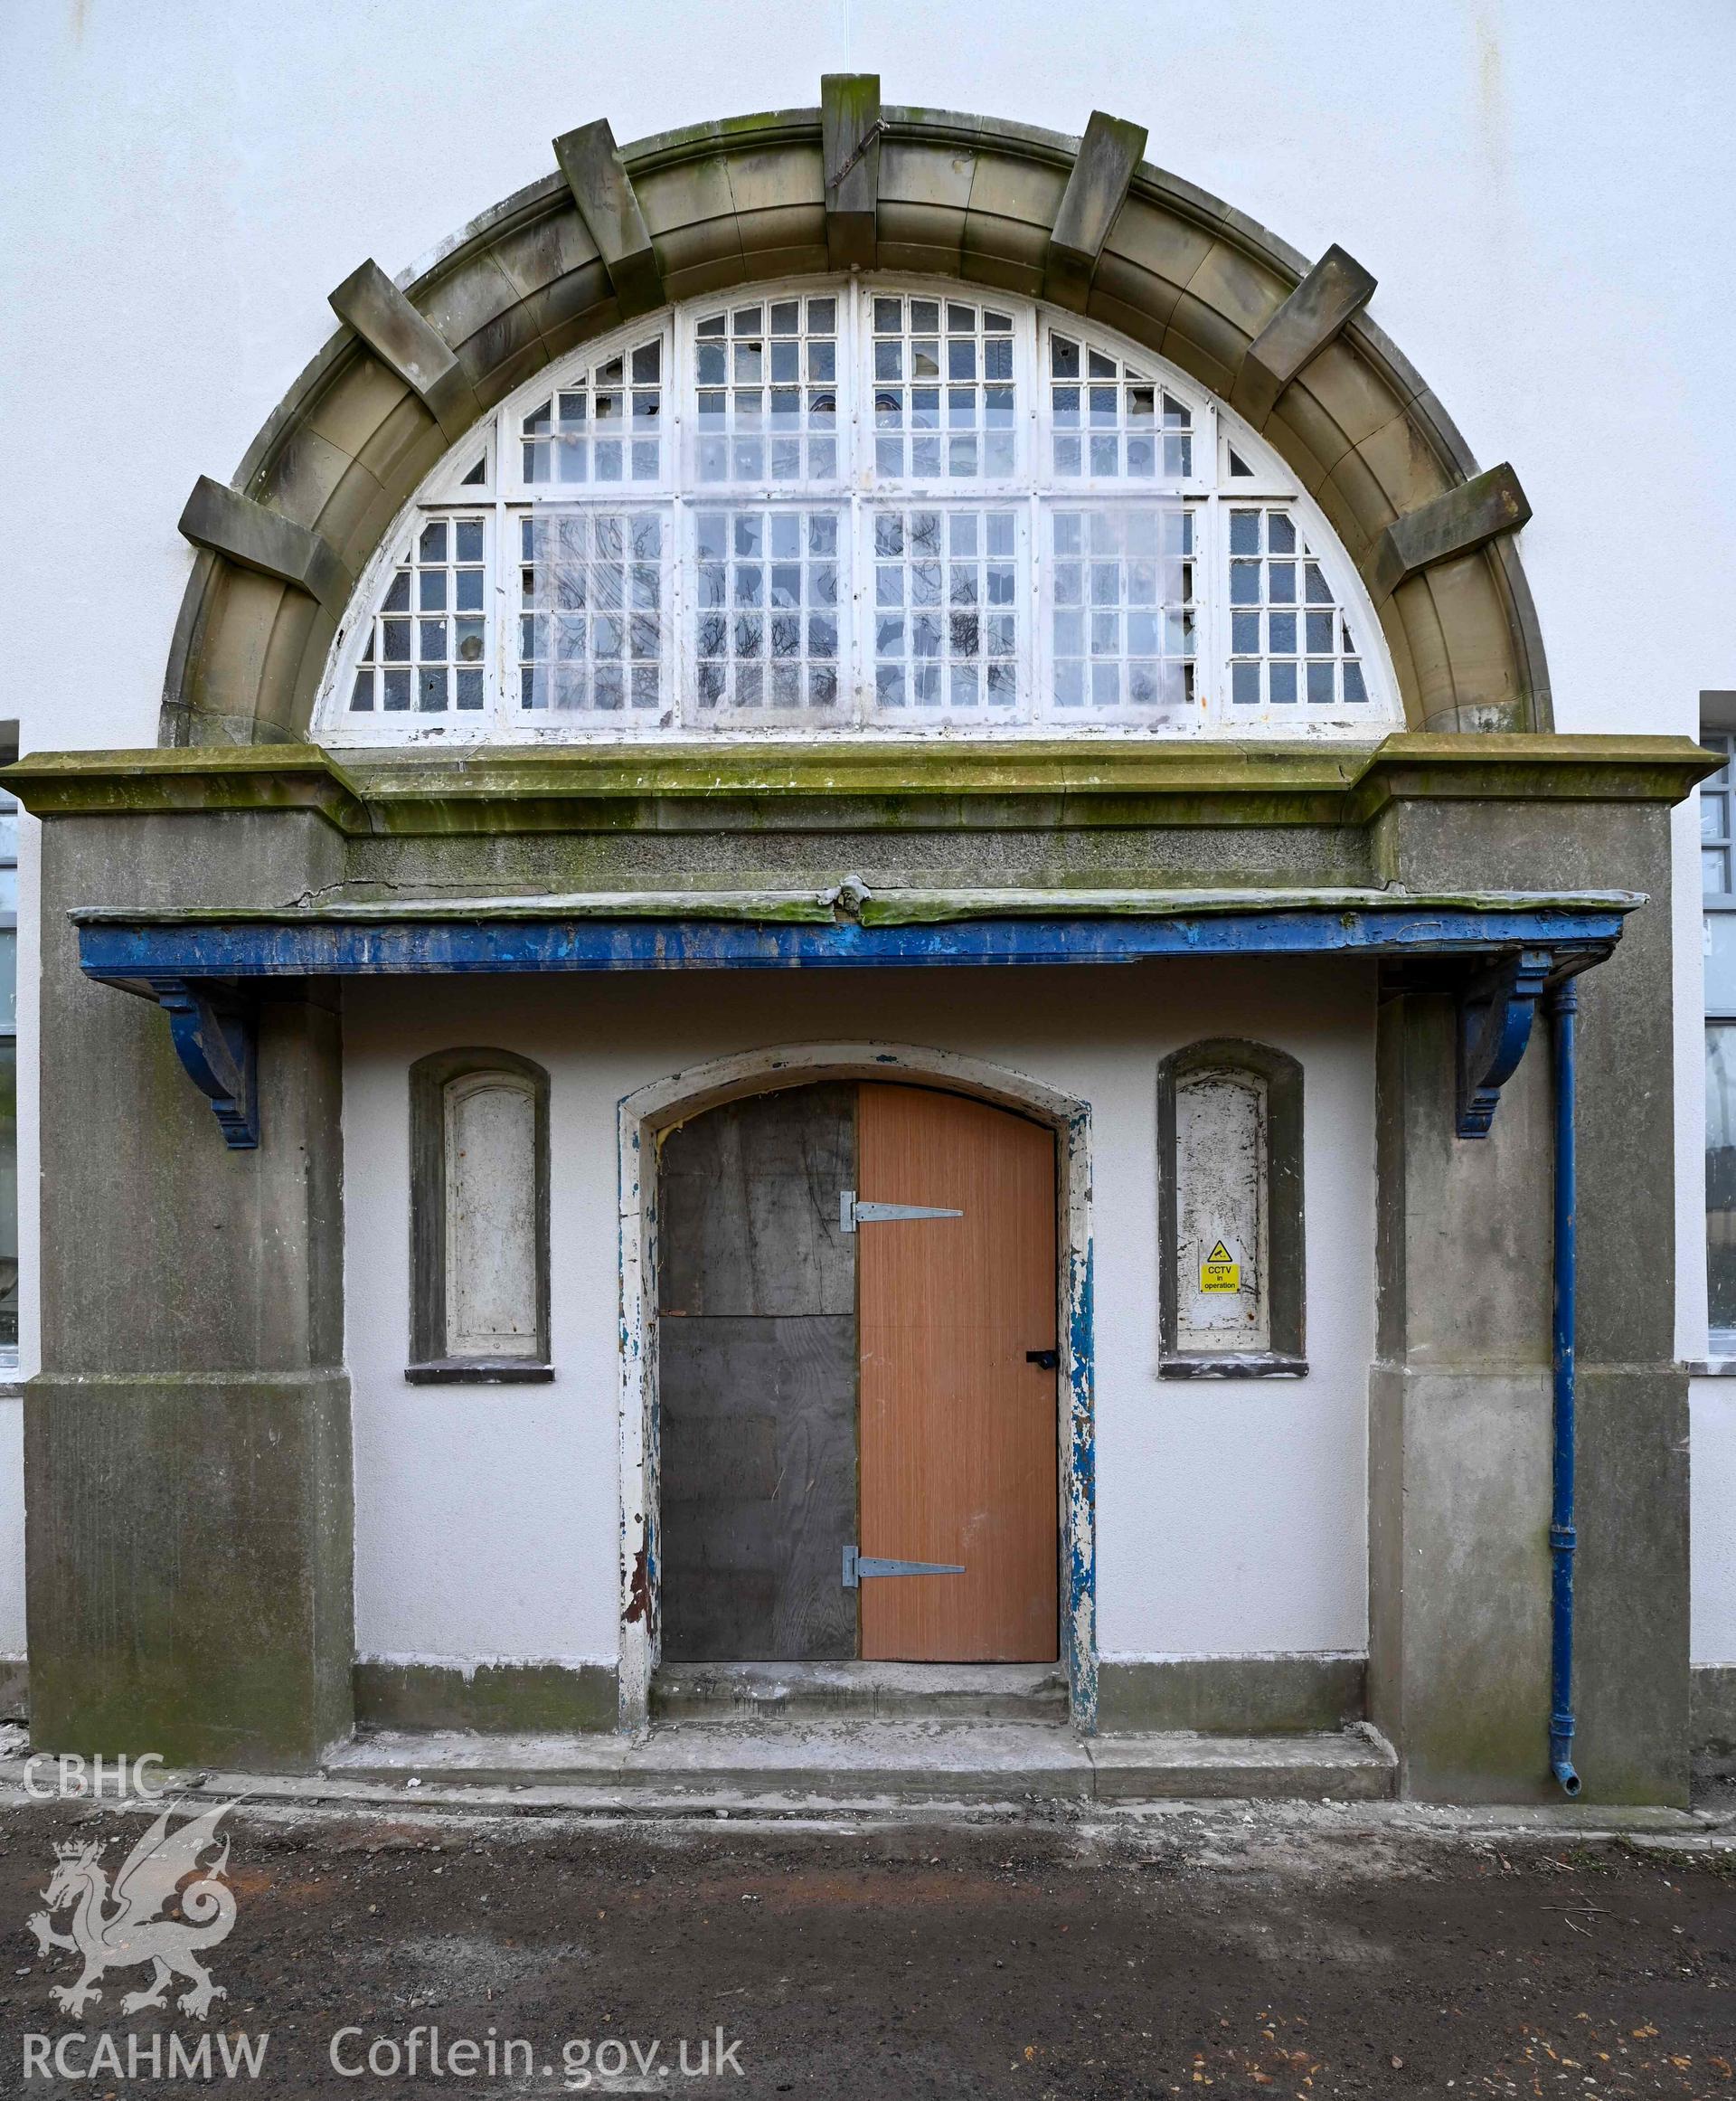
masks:
<path id="1" fill-rule="evenodd" d="M 1736 1355 L 1736 882 L 1732 779 L 1736 735 L 1702 729 L 1723 765 L 1700 782 L 1700 891 L 1707 962 L 1707 1315 L 1711 1351 Z"/>

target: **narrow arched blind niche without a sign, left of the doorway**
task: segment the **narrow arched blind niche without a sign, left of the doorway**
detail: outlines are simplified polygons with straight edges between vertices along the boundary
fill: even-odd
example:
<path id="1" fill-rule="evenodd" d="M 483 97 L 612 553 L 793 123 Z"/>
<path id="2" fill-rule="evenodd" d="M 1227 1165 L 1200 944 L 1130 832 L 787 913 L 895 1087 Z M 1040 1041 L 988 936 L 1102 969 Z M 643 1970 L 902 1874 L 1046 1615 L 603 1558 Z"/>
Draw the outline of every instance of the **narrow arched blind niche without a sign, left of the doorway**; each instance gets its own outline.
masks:
<path id="1" fill-rule="evenodd" d="M 414 1385 L 548 1378 L 548 1074 L 437 1050 L 409 1074 Z"/>

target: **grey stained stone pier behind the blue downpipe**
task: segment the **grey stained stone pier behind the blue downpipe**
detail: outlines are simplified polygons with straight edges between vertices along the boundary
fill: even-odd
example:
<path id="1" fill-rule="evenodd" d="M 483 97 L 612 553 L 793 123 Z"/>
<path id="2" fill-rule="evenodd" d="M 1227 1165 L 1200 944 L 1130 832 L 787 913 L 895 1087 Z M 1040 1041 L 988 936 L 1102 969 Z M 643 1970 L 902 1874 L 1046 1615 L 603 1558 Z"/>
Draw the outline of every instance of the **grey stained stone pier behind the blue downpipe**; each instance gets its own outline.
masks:
<path id="1" fill-rule="evenodd" d="M 1688 1380 L 1660 1290 L 1673 1187 L 1656 1170 L 1673 1145 L 1669 813 L 1593 805 L 1562 824 L 1526 803 L 1396 796 L 1375 834 L 1379 866 L 1409 885 L 1476 853 L 1518 887 L 1650 899 L 1581 979 L 1574 1761 L 1587 1801 L 1681 1803 Z M 1369 1710 L 1400 1746 L 1409 1792 L 1516 1798 L 1526 1775 L 1539 1792 L 1547 1782 L 1534 1742 L 1549 1687 L 1547 1025 L 1474 1145 L 1440 1116 L 1451 998 L 1388 1000 L 1377 1059 Z"/>

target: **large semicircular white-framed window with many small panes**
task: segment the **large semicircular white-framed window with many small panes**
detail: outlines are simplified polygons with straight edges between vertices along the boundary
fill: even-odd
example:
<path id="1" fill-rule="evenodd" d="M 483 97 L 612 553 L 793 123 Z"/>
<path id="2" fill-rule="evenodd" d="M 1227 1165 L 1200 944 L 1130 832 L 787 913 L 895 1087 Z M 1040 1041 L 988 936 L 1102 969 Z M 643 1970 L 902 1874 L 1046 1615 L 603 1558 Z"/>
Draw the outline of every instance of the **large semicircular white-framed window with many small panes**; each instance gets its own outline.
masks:
<path id="1" fill-rule="evenodd" d="M 399 517 L 332 744 L 1377 735 L 1379 624 L 1295 477 L 1029 300 L 802 282 L 544 372 Z"/>

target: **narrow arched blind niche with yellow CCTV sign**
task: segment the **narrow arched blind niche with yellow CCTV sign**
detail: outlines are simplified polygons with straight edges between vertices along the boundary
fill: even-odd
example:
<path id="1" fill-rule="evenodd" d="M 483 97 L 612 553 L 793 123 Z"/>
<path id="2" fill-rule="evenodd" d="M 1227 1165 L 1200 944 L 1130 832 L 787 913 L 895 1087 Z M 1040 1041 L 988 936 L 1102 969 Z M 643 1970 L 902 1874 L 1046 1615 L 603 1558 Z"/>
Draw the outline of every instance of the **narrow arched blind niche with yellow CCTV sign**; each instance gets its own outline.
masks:
<path id="1" fill-rule="evenodd" d="M 1159 1067 L 1165 1378 L 1306 1372 L 1301 1065 L 1188 1044 Z"/>

